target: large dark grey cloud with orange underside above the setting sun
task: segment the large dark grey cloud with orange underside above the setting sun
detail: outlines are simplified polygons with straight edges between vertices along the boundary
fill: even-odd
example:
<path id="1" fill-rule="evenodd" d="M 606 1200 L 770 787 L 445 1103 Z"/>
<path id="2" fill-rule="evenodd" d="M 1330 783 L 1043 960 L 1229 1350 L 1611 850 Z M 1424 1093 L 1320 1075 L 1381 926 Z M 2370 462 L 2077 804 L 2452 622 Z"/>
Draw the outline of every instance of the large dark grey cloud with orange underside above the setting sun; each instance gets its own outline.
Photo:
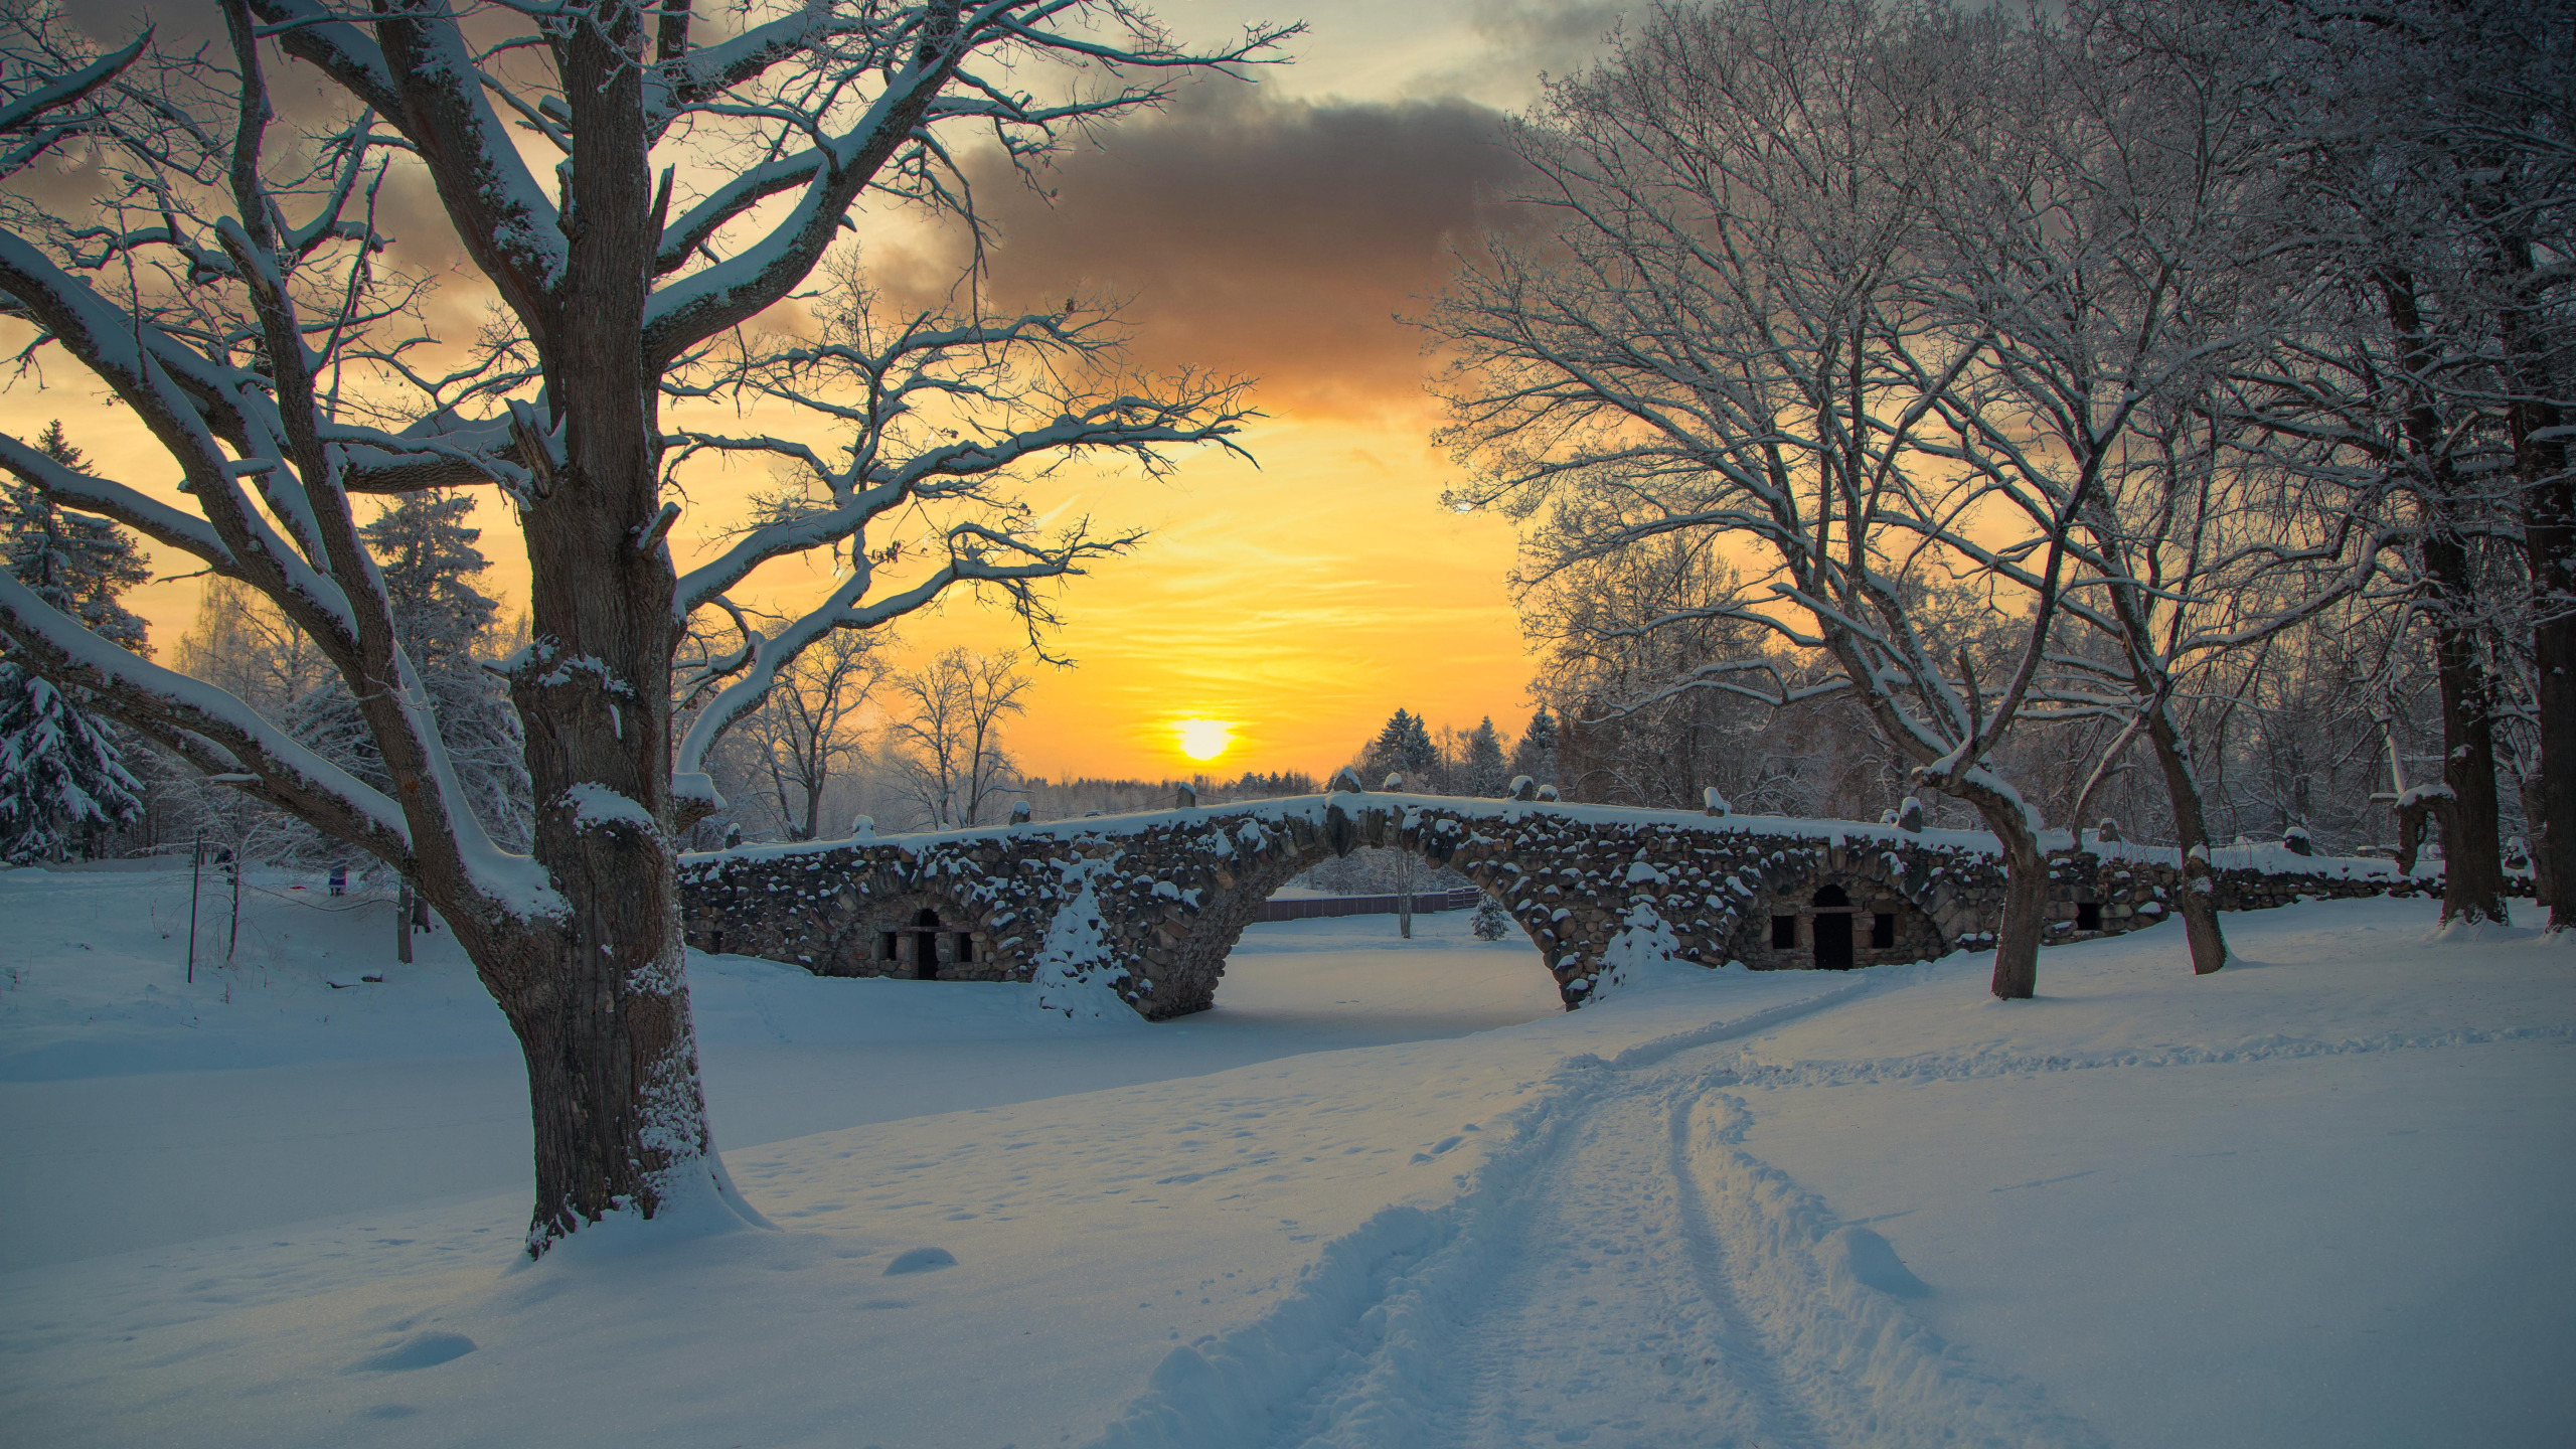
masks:
<path id="1" fill-rule="evenodd" d="M 984 168 L 992 291 L 1005 307 L 1131 297 L 1136 361 L 1260 376 L 1267 410 L 1414 407 L 1422 335 L 1394 315 L 1422 312 L 1453 253 L 1510 222 L 1517 162 L 1499 134 L 1497 111 L 1453 98 L 1200 85 L 1061 155 L 1041 178 L 1051 199 Z"/>

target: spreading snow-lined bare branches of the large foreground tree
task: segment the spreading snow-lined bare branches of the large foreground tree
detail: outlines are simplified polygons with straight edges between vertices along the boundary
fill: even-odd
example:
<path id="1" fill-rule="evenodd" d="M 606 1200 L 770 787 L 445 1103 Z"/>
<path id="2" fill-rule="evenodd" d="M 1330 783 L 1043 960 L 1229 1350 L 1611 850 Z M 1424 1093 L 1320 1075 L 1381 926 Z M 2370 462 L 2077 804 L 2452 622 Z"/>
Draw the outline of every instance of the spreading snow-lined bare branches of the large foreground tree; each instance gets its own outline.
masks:
<path id="1" fill-rule="evenodd" d="M 13 168 L 72 139 L 116 157 L 124 191 L 95 217 L 21 206 L 0 289 L 46 351 L 88 366 L 162 438 L 198 516 L 26 443 L 0 441 L 0 467 L 270 593 L 343 673 L 394 652 L 381 601 L 366 598 L 371 570 L 345 536 L 345 495 L 492 485 L 541 511 L 587 462 L 559 379 L 564 356 L 618 312 L 585 273 L 611 258 L 582 245 L 611 204 L 652 227 L 649 268 L 623 284 L 639 315 L 621 358 L 636 379 L 623 413 L 647 436 L 621 451 L 654 482 L 706 449 L 781 454 L 809 474 L 672 593 L 675 634 L 696 611 L 744 624 L 714 663 L 737 683 L 698 712 L 683 771 L 824 629 L 881 624 L 958 583 L 1002 588 L 1043 621 L 1041 580 L 1133 539 L 1082 523 L 1041 534 L 1007 492 L 1015 467 L 1097 449 L 1159 467 L 1154 449 L 1224 441 L 1242 420 L 1229 387 L 1157 389 L 1095 366 L 1115 340 L 1097 312 L 881 317 L 853 278 L 819 340 L 770 345 L 752 327 L 806 286 L 863 199 L 971 214 L 958 147 L 999 144 L 1036 165 L 1069 129 L 1157 103 L 1164 75 L 1262 59 L 1283 31 L 1188 52 L 1123 5 L 1066 0 L 755 5 L 716 26 L 685 5 L 616 3 L 366 15 L 258 0 L 224 18 L 229 70 L 165 59 L 152 36 L 88 57 L 44 10 L 23 15 L 0 111 L 0 131 L 26 137 Z M 276 134 L 276 52 L 337 83 L 345 111 Z M 420 278 L 386 263 L 374 204 L 407 165 L 428 170 L 497 294 L 492 335 L 428 333 Z M 144 211 L 152 224 L 129 224 Z M 126 289 L 134 268 L 147 276 L 139 294 Z M 129 312 L 144 325 L 126 325 Z M 817 407 L 845 441 L 822 454 L 770 436 L 652 431 L 657 392 L 734 389 Z M 956 498 L 989 508 L 951 521 L 930 567 L 889 567 L 914 544 L 891 536 L 891 518 Z M 657 549 L 675 516 L 667 503 L 634 518 L 634 547 Z M 889 536 L 871 541 L 871 526 Z M 765 632 L 732 608 L 726 590 L 757 567 L 811 552 L 842 565 L 819 608 Z M 884 588 L 886 575 L 902 588 Z M 31 637 L 54 632 L 15 601 L 8 619 Z M 129 709 L 188 735 L 183 750 L 201 766 L 276 776 L 242 784 L 335 815 L 371 846 L 394 851 L 410 835 L 404 812 L 350 797 L 219 701 L 85 657 L 82 642 L 46 647 L 116 673 Z M 386 712 L 371 724 L 415 735 L 422 773 L 435 773 L 415 722 Z"/>

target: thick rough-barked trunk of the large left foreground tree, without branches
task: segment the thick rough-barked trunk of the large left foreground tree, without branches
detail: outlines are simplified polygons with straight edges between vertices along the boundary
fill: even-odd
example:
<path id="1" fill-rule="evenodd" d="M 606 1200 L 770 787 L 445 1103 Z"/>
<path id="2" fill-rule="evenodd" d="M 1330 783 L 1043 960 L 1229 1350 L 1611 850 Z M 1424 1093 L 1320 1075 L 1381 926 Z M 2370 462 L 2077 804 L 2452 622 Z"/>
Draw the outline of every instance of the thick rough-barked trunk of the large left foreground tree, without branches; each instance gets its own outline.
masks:
<path id="1" fill-rule="evenodd" d="M 510 681 L 528 722 L 536 859 L 564 900 L 515 941 L 487 985 L 528 1055 L 536 1116 L 533 1253 L 611 1212 L 659 1214 L 721 1178 L 688 1016 L 680 900 L 667 838 L 670 549 L 636 539 L 659 511 L 657 379 L 639 320 L 657 229 L 644 165 L 641 67 L 618 23 L 564 41 L 582 227 L 567 237 L 546 397 L 562 469 L 526 521 L 533 645 Z M 574 786 L 644 817 L 600 820 Z"/>

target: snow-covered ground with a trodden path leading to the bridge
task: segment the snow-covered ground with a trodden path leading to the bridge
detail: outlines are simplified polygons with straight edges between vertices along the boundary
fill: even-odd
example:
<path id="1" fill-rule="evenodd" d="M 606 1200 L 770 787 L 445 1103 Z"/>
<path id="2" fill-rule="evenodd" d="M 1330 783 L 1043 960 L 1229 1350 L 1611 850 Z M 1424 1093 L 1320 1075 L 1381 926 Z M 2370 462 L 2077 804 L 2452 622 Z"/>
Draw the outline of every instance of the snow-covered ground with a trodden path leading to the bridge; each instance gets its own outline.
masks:
<path id="1" fill-rule="evenodd" d="M 2014 1006 L 1953 957 L 1569 1016 L 1466 913 L 1257 926 L 1164 1026 L 693 957 L 775 1232 L 528 1266 L 448 938 L 255 884 L 191 987 L 185 874 L 0 871 L 5 1444 L 2576 1441 L 2576 951 L 2427 902 Z"/>

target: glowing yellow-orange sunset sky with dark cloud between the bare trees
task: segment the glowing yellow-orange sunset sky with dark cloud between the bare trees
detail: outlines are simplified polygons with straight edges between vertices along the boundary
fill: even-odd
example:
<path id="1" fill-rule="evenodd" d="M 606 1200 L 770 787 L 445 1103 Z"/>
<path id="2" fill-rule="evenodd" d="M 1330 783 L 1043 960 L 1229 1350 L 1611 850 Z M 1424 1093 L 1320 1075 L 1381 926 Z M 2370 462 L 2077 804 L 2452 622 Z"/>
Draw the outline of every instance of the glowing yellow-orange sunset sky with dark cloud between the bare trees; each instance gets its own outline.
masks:
<path id="1" fill-rule="evenodd" d="M 1324 773 L 1396 706 L 1458 727 L 1492 714 L 1512 732 L 1530 709 L 1504 588 L 1512 526 L 1440 505 L 1455 467 L 1430 446 L 1432 361 L 1396 317 L 1422 312 L 1453 248 L 1502 217 L 1489 206 L 1512 186 L 1494 147 L 1502 116 L 1535 95 L 1540 72 L 1582 64 L 1618 8 L 1221 0 L 1157 13 L 1182 39 L 1218 41 L 1244 21 L 1306 21 L 1309 34 L 1291 44 L 1293 64 L 1252 85 L 1195 85 L 1167 113 L 1066 152 L 1051 204 L 1007 175 L 981 178 L 979 204 L 999 227 L 989 286 L 1002 304 L 1131 297 L 1139 364 L 1260 379 L 1267 418 L 1242 438 L 1260 467 L 1211 449 L 1182 454 L 1167 482 L 1084 477 L 1038 495 L 1151 536 L 1061 596 L 1051 647 L 1077 668 L 1038 668 L 1012 748 L 1056 779 Z M 93 23 L 126 34 L 108 15 Z M 878 286 L 940 286 L 948 242 L 899 217 L 858 222 Z M 170 472 L 85 379 L 54 366 L 46 382 L 10 387 L 10 431 L 59 415 L 118 477 Z M 685 482 L 680 567 L 768 477 L 708 467 Z M 515 529 L 497 503 L 482 521 L 492 583 L 515 596 Z M 801 588 L 793 575 L 765 583 L 781 601 Z M 129 603 L 167 645 L 196 596 L 196 583 L 157 583 Z M 971 601 L 902 632 L 914 650 L 1018 642 L 1007 614 Z M 1193 766 L 1185 719 L 1229 722 L 1231 748 Z"/>

